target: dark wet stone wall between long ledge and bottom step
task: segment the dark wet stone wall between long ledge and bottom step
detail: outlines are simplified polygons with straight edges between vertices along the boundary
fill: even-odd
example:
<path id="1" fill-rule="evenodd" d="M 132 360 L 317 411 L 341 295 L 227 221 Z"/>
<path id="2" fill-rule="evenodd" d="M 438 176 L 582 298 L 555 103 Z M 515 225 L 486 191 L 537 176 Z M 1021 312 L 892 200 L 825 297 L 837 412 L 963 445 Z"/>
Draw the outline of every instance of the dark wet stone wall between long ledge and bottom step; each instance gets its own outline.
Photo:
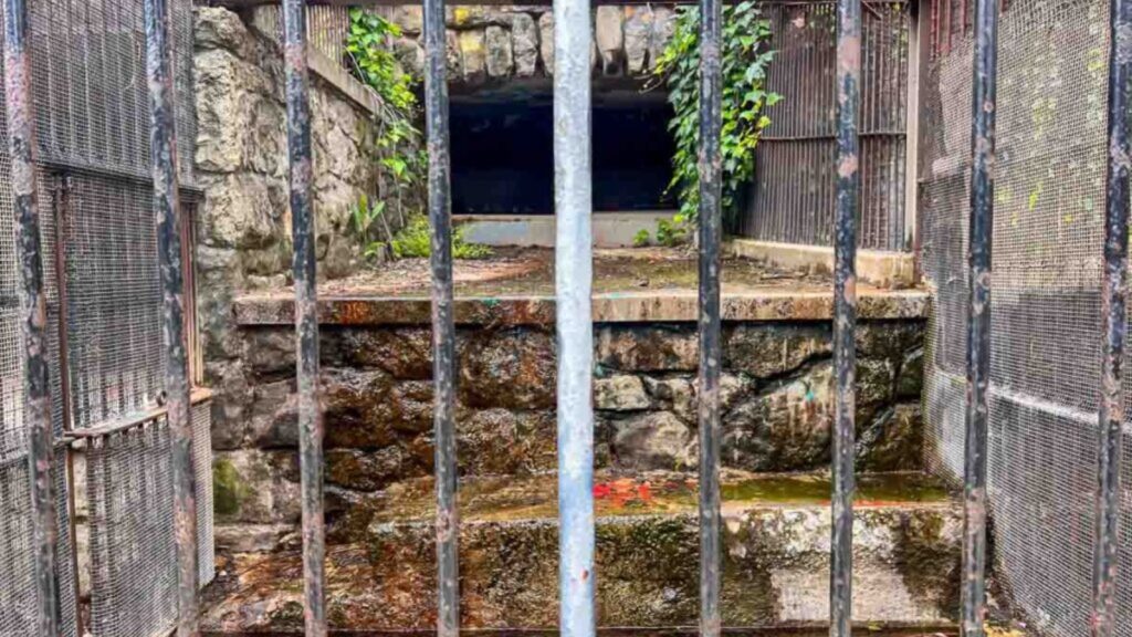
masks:
<path id="1" fill-rule="evenodd" d="M 858 332 L 861 472 L 920 468 L 920 320 Z M 432 473 L 427 325 L 321 331 L 332 542 L 360 538 L 397 483 Z M 214 419 L 217 542 L 267 550 L 299 520 L 293 330 L 246 326 L 239 380 Z M 829 322 L 726 328 L 726 467 L 827 467 L 833 415 Z M 696 466 L 694 323 L 595 326 L 595 462 L 619 474 Z M 458 331 L 457 445 L 463 476 L 549 473 L 555 451 L 552 325 Z"/>

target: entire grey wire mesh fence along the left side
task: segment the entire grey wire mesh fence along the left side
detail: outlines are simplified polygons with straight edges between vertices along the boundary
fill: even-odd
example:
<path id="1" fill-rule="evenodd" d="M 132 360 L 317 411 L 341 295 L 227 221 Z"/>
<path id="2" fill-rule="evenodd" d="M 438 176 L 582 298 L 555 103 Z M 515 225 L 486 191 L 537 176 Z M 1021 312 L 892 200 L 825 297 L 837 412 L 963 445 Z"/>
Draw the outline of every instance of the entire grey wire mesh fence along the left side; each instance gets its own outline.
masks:
<path id="1" fill-rule="evenodd" d="M 174 0 L 171 5 L 180 176 L 183 185 L 191 186 L 196 138 L 190 73 L 192 3 Z M 96 440 L 89 452 L 93 470 L 86 476 L 91 500 L 80 503 L 78 520 L 70 519 L 75 491 L 68 484 L 67 467 L 71 451 L 62 442 L 65 424 L 89 428 L 136 418 L 157 406 L 162 390 L 164 346 L 149 187 L 142 7 L 136 0 L 29 2 L 51 390 L 60 436 L 55 458 L 57 578 L 66 636 L 80 631 L 75 525 L 88 526 L 98 549 L 92 550 L 91 562 L 79 564 L 92 569 L 96 583 L 85 627 L 89 634 L 157 635 L 168 630 L 177 613 L 175 596 L 168 586 L 174 577 L 168 433 L 149 441 L 149 447 L 135 443 L 129 449 L 137 453 L 127 459 L 104 451 L 118 449 L 119 442 Z M 7 139 L 2 121 L 0 113 L 0 138 Z M 28 579 L 33 553 L 27 435 L 22 415 L 23 346 L 10 164 L 7 143 L 2 146 L 0 636 L 16 637 L 32 632 L 31 613 L 37 606 Z M 183 207 L 191 214 L 191 205 Z M 63 337 L 65 345 L 60 342 Z M 66 377 L 61 375 L 61 354 L 67 355 Z M 70 391 L 65 393 L 65 389 Z M 197 405 L 194 426 L 203 583 L 212 579 L 214 571 L 208 424 L 207 405 Z M 155 424 L 147 431 L 160 433 L 163 428 Z M 136 508 L 123 510 L 128 506 Z M 121 596 L 122 592 L 130 596 Z M 108 598 L 117 601 L 113 609 L 105 605 Z"/>

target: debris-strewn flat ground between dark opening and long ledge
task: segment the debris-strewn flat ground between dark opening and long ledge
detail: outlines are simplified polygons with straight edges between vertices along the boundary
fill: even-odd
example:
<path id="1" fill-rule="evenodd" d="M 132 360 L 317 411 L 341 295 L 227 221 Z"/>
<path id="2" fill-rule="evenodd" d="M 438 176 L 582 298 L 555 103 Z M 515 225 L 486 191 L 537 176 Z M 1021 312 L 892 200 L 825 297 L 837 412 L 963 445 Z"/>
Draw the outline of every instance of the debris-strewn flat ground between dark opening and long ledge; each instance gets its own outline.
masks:
<path id="1" fill-rule="evenodd" d="M 696 289 L 697 256 L 691 248 L 609 248 L 593 250 L 594 294 L 631 290 Z M 483 260 L 454 265 L 455 294 L 461 297 L 552 295 L 555 253 L 549 248 L 500 247 Z M 827 273 L 789 271 L 738 257 L 723 260 L 724 291 L 829 289 Z M 325 281 L 325 296 L 428 296 L 431 273 L 427 258 L 384 263 L 345 279 Z M 282 291 L 282 290 L 277 290 Z"/>

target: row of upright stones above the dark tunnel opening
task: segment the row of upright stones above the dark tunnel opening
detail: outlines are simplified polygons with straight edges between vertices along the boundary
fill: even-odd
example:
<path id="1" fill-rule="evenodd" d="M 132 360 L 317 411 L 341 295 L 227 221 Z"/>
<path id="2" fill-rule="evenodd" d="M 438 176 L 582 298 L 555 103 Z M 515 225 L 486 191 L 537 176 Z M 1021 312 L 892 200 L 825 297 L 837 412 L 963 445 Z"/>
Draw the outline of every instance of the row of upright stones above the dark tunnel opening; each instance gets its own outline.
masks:
<path id="1" fill-rule="evenodd" d="M 392 14 L 405 37 L 397 54 L 420 75 L 424 51 L 420 6 Z M 672 33 L 674 11 L 663 5 L 599 7 L 594 11 L 593 66 L 598 77 L 637 77 L 655 65 Z M 462 6 L 447 10 L 448 78 L 479 85 L 554 75 L 554 15 L 548 7 Z"/>

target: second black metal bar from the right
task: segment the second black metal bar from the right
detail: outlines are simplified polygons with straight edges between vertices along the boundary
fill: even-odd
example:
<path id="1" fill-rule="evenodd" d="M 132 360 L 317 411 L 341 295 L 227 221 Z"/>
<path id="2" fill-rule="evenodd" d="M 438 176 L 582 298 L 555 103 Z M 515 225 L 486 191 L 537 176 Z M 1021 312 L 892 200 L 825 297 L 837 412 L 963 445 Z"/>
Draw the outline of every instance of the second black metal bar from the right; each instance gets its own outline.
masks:
<path id="1" fill-rule="evenodd" d="M 968 252 L 967 440 L 960 630 L 981 637 L 986 610 L 987 385 L 990 379 L 990 249 L 994 229 L 995 73 L 998 0 L 977 0 L 971 95 L 971 218 Z"/>

